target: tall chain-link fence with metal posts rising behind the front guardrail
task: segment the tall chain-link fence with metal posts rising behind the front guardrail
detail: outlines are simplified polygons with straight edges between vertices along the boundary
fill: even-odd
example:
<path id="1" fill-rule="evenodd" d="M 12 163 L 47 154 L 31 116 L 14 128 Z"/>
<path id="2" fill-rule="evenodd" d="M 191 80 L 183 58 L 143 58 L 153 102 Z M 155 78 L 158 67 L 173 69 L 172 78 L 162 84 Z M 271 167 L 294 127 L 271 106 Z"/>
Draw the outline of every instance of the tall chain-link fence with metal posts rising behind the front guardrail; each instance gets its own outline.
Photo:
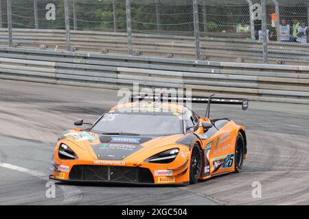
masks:
<path id="1" fill-rule="evenodd" d="M 308 0 L 0 0 L 0 43 L 308 64 Z"/>

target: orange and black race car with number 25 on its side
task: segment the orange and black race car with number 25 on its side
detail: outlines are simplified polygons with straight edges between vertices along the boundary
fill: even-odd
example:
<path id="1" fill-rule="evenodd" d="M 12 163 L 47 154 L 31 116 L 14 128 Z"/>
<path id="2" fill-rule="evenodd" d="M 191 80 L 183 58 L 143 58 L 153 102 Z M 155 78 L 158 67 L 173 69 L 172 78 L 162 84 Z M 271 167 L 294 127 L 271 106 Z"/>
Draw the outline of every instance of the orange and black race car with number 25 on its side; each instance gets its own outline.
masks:
<path id="1" fill-rule="evenodd" d="M 247 110 L 248 100 L 214 95 L 181 99 L 207 103 L 205 118 L 172 100 L 180 99 L 135 96 L 108 110 L 91 128 L 65 131 L 58 138 L 49 179 L 192 184 L 238 172 L 247 156 L 245 127 L 229 118 L 210 120 L 209 109 L 211 104 L 233 104 Z"/>

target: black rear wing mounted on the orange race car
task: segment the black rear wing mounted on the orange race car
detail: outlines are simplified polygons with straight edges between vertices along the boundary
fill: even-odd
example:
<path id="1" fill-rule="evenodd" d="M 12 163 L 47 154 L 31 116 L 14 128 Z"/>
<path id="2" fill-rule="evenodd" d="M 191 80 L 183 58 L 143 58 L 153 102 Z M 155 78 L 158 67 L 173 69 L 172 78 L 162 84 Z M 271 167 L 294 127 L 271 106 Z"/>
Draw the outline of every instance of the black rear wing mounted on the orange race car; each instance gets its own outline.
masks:
<path id="1" fill-rule="evenodd" d="M 214 97 L 211 94 L 208 97 L 178 97 L 178 96 L 131 96 L 131 101 L 176 101 L 176 102 L 191 102 L 191 103 L 205 103 L 207 110 L 205 117 L 209 118 L 211 104 L 225 104 L 225 105 L 242 105 L 242 110 L 247 110 L 249 107 L 249 99 L 234 99 L 234 98 L 221 98 Z"/>

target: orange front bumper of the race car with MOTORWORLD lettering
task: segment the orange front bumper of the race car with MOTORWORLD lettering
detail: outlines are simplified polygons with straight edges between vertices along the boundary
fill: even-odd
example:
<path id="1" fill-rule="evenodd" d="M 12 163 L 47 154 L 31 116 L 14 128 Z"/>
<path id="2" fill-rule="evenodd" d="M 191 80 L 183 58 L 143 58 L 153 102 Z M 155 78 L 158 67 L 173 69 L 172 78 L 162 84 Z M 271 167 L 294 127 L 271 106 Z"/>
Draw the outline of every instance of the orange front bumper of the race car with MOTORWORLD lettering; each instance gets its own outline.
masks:
<path id="1" fill-rule="evenodd" d="M 69 144 L 69 142 L 65 142 Z M 64 144 L 65 144 L 64 143 Z M 61 144 L 58 142 L 57 145 Z M 69 144 L 78 155 L 78 159 L 60 159 L 58 148 L 51 159 L 50 179 L 72 182 L 99 182 L 99 183 L 133 183 L 133 184 L 183 184 L 189 181 L 190 151 L 187 146 L 177 145 L 179 156 L 170 164 L 141 162 L 145 157 L 156 154 L 150 152 L 131 156 L 124 160 L 95 159 L 84 149 Z M 171 146 L 172 147 L 172 146 Z M 174 148 L 174 146 L 173 146 Z"/>

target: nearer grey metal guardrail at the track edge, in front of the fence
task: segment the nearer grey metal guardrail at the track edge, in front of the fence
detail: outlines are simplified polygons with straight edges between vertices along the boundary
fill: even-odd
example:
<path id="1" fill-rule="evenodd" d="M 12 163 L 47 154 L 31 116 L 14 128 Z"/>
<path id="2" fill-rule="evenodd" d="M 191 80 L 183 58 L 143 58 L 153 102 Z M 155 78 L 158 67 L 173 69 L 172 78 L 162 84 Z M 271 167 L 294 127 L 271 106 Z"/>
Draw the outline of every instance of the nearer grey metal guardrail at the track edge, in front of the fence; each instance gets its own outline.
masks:
<path id="1" fill-rule="evenodd" d="M 191 88 L 253 101 L 309 104 L 309 66 L 209 62 L 0 47 L 0 78 L 95 88 Z"/>

